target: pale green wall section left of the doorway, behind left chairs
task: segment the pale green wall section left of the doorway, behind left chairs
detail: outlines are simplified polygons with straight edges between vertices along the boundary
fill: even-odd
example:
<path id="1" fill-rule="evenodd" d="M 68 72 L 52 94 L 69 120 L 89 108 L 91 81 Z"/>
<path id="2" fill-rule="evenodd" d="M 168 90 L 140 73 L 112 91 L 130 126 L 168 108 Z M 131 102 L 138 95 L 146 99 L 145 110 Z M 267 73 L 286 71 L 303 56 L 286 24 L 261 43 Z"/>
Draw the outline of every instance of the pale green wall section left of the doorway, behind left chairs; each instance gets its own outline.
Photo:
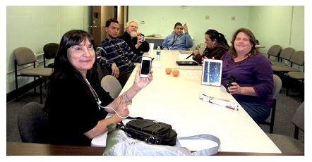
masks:
<path id="1" fill-rule="evenodd" d="M 68 30 L 88 31 L 90 13 L 90 6 L 6 6 L 6 93 L 15 89 L 14 49 L 27 46 L 42 54 L 44 44 L 59 42 Z M 32 80 L 19 78 L 18 85 Z"/>

